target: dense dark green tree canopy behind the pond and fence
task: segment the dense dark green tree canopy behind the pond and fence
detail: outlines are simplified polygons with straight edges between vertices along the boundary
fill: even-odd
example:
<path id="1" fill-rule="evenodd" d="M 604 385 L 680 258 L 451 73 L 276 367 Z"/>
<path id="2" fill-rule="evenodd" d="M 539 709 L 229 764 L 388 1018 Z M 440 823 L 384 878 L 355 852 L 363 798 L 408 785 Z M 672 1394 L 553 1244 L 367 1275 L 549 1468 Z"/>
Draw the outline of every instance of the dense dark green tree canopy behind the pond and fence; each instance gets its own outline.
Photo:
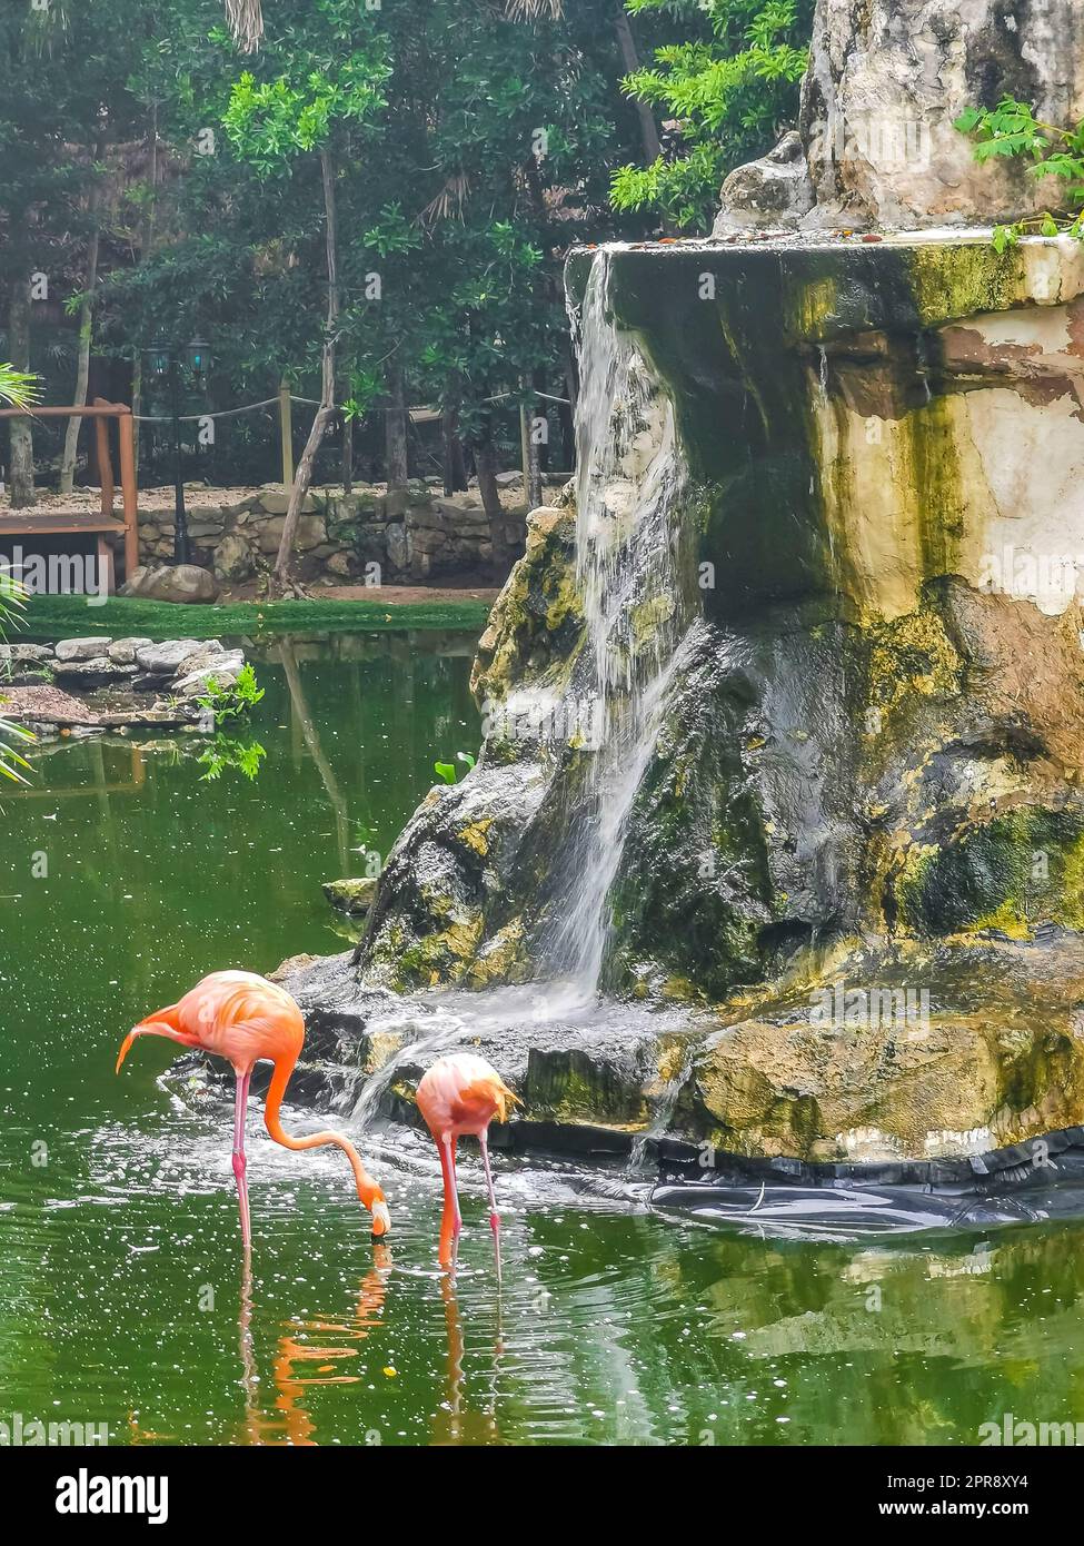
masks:
<path id="1" fill-rule="evenodd" d="M 91 376 L 113 360 L 139 397 L 145 351 L 201 334 L 209 407 L 289 380 L 334 404 L 343 475 L 354 428 L 371 472 L 404 473 L 414 404 L 479 478 L 518 464 L 521 405 L 543 447 L 569 431 L 569 246 L 708 224 L 793 113 L 810 8 L 12 0 L 0 352 L 63 402 L 93 339 Z M 235 479 L 268 476 L 260 433 L 230 422 Z M 329 436 L 315 456 L 334 476 Z"/>

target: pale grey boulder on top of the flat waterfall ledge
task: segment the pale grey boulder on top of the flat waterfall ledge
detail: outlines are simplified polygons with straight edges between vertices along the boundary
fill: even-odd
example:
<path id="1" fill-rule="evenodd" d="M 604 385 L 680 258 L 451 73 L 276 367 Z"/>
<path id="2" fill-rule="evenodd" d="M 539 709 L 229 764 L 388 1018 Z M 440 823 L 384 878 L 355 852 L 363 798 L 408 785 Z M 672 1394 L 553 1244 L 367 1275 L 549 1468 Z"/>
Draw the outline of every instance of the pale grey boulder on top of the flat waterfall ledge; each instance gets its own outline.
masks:
<path id="1" fill-rule="evenodd" d="M 915 230 L 1048 207 L 1025 158 L 979 165 L 954 119 L 1011 94 L 1084 117 L 1084 9 L 1073 0 L 820 0 L 801 93 L 804 161 L 787 139 L 724 184 L 716 232 L 750 226 Z"/>

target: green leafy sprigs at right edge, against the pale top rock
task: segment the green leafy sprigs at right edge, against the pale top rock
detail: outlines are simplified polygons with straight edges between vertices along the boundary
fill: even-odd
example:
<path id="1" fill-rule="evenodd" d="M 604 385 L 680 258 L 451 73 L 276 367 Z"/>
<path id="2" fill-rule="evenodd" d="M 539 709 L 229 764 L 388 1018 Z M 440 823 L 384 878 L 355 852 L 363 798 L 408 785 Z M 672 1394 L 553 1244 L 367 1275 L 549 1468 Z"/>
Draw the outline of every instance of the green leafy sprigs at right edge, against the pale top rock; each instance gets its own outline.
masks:
<path id="1" fill-rule="evenodd" d="M 1030 156 L 1031 176 L 1061 178 L 1065 184 L 1055 206 L 1056 213 L 1044 210 L 1011 226 L 994 226 L 997 252 L 1005 252 L 1025 235 L 1084 240 L 1084 121 L 1076 128 L 1058 128 L 1038 119 L 1027 102 L 1004 96 L 994 108 L 965 108 L 954 127 L 974 138 L 977 161 Z"/>

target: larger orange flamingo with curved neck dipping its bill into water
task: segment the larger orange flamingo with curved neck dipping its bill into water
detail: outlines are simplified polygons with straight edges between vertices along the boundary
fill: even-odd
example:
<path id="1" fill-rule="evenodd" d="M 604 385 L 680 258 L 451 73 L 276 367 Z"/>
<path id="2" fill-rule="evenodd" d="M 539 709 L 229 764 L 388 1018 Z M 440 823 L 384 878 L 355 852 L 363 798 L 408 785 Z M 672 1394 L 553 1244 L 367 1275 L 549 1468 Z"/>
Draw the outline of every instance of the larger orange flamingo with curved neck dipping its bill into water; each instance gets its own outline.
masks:
<path id="1" fill-rule="evenodd" d="M 322 1149 L 337 1144 L 349 1160 L 357 1184 L 357 1197 L 373 1214 L 373 1235 L 387 1235 L 391 1217 L 383 1192 L 362 1164 L 348 1138 L 340 1133 L 308 1133 L 291 1138 L 278 1119 L 283 1095 L 305 1044 L 305 1020 L 291 996 L 251 971 L 213 971 L 198 982 L 179 1003 L 156 1010 L 141 1020 L 124 1039 L 116 1071 L 128 1056 L 136 1036 L 165 1036 L 181 1047 L 199 1047 L 206 1053 L 226 1057 L 234 1065 L 237 1095 L 234 1105 L 234 1175 L 241 1211 L 241 1243 L 252 1243 L 249 1223 L 249 1184 L 244 1158 L 244 1113 L 249 1104 L 252 1068 L 266 1059 L 275 1065 L 264 1104 L 263 1121 L 285 1149 Z"/>

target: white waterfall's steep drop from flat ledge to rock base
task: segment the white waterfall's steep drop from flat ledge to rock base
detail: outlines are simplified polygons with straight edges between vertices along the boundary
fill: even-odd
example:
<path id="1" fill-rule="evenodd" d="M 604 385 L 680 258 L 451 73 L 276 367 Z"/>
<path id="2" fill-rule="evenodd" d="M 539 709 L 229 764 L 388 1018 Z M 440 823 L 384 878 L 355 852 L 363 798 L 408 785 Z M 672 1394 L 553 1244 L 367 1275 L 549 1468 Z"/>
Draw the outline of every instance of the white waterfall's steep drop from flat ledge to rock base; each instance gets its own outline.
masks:
<path id="1" fill-rule="evenodd" d="M 580 997 L 594 996 L 628 815 L 651 762 L 679 646 L 690 623 L 683 464 L 673 405 L 631 334 L 609 315 L 609 252 L 595 254 L 580 317 L 577 584 L 600 727 L 566 856 L 566 895 L 543 957 Z"/>

